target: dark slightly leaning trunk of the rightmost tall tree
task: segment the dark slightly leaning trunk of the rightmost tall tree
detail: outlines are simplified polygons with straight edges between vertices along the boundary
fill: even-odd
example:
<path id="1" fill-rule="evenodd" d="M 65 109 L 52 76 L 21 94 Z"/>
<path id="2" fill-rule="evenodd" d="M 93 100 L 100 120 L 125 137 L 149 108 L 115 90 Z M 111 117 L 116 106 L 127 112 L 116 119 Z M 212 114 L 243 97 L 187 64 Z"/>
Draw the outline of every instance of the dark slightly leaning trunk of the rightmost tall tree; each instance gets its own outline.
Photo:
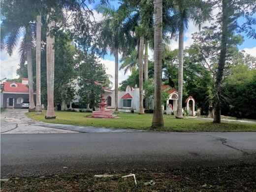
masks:
<path id="1" fill-rule="evenodd" d="M 215 81 L 215 96 L 214 96 L 214 119 L 213 123 L 221 123 L 221 97 L 222 97 L 222 81 L 223 71 L 226 61 L 226 46 L 228 38 L 228 0 L 222 1 L 222 40 L 221 53 L 218 63 Z"/>

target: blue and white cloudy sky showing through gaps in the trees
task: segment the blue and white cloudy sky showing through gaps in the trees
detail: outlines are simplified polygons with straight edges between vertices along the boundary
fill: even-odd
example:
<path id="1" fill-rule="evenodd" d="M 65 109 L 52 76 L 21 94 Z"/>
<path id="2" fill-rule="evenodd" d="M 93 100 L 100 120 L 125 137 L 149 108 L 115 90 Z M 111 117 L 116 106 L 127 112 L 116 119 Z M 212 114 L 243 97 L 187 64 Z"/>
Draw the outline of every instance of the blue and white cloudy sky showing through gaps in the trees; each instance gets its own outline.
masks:
<path id="1" fill-rule="evenodd" d="M 110 1 L 111 4 L 117 8 L 119 6 L 118 1 Z M 90 4 L 89 8 L 93 9 L 99 2 L 96 1 L 95 4 Z M 97 13 L 95 10 L 93 11 L 95 18 L 97 21 L 102 20 L 103 17 L 100 13 Z M 213 13 L 214 14 L 214 13 Z M 256 17 L 256 15 L 255 15 Z M 209 26 L 209 22 L 204 24 L 205 26 Z M 199 32 L 198 28 L 194 26 L 192 22 L 189 23 L 189 28 L 185 31 L 184 35 L 184 47 L 188 47 L 192 45 L 192 33 Z M 249 39 L 248 37 L 244 36 L 244 42 L 238 48 L 239 50 L 244 50 L 246 53 L 253 55 L 256 57 L 256 39 Z M 20 39 L 21 40 L 21 39 Z M 178 48 L 178 41 L 171 41 L 169 44 L 171 50 Z M 13 52 L 13 55 L 10 57 L 5 51 L 0 52 L 0 79 L 3 78 L 18 78 L 16 75 L 16 70 L 18 69 L 19 64 L 19 46 Z M 154 52 L 153 50 L 149 50 L 149 59 L 153 59 Z M 121 59 L 121 55 L 119 55 Z M 115 71 L 115 59 L 112 55 L 106 55 L 104 58 L 99 58 L 99 61 L 105 65 L 107 74 L 111 74 L 112 78 L 110 80 L 114 83 L 114 71 Z M 120 63 L 119 63 L 120 64 Z M 127 79 L 130 75 L 128 71 L 127 74 L 124 74 L 124 70 L 119 71 L 119 83 L 123 80 Z"/>

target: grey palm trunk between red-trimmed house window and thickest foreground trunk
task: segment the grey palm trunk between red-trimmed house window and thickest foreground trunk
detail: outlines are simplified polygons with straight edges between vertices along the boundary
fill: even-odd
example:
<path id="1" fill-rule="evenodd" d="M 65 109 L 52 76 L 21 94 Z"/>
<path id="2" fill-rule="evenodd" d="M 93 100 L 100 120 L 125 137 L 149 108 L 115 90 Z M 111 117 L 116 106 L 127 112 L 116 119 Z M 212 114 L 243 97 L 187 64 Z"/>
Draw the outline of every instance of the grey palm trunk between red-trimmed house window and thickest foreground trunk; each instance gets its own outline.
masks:
<path id="1" fill-rule="evenodd" d="M 144 114 L 143 108 L 143 45 L 144 37 L 140 37 L 139 41 L 139 114 Z"/>

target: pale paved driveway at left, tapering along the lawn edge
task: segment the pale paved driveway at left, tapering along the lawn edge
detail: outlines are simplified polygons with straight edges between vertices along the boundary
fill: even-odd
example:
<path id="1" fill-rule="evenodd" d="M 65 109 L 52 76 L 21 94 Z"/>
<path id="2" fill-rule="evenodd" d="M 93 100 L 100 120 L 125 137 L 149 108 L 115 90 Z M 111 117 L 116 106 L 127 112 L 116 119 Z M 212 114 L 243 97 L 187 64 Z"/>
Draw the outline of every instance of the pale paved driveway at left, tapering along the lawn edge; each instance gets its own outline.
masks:
<path id="1" fill-rule="evenodd" d="M 1 113 L 1 133 L 74 133 L 74 132 L 136 132 L 127 128 L 98 128 L 33 121 L 25 113 L 28 109 L 5 109 Z"/>

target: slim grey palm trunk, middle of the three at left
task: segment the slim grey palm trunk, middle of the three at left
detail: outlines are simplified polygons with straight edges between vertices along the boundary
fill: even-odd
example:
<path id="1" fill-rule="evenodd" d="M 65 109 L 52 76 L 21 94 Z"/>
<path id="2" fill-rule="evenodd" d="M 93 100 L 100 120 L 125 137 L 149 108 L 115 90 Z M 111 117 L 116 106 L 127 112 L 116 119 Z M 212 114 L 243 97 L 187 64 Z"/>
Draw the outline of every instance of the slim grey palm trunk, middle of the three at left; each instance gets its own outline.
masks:
<path id="1" fill-rule="evenodd" d="M 41 107 L 41 14 L 36 16 L 36 107 L 35 114 L 42 113 Z"/>

